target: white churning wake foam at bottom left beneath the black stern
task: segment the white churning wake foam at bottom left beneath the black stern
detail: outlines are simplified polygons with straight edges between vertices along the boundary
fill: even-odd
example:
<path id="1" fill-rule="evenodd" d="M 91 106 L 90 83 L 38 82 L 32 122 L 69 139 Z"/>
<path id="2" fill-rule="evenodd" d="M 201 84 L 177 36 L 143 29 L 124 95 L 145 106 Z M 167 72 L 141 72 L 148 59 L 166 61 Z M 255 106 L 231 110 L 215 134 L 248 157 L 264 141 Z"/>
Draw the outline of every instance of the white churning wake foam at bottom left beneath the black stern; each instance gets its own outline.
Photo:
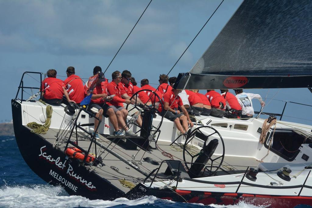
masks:
<path id="1" fill-rule="evenodd" d="M 137 200 L 126 198 L 118 198 L 114 201 L 89 200 L 82 196 L 69 196 L 63 188 L 49 185 L 0 188 L 0 207 L 110 207 L 121 204 L 134 206 L 152 204 L 156 200 L 154 196 L 144 196 Z"/>

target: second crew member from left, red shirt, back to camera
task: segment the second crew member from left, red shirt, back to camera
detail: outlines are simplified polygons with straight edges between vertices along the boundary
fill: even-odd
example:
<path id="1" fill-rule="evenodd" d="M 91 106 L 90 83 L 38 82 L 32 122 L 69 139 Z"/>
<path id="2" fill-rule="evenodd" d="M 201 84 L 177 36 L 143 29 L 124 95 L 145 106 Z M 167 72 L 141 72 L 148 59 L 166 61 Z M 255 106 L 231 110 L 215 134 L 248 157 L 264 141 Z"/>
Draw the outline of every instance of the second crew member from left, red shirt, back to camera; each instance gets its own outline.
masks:
<path id="1" fill-rule="evenodd" d="M 79 103 L 85 98 L 83 82 L 81 78 L 75 75 L 74 67 L 67 67 L 67 78 L 63 83 L 64 95 L 68 102 Z"/>

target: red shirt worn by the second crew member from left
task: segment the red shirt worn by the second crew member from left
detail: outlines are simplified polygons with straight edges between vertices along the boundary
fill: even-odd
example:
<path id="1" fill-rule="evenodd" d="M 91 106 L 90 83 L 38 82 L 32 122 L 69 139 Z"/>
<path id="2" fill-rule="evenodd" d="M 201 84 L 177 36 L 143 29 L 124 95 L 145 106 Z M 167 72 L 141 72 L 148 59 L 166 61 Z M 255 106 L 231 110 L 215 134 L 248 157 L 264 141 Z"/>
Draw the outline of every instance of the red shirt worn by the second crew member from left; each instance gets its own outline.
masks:
<path id="1" fill-rule="evenodd" d="M 66 88 L 69 99 L 80 103 L 85 97 L 84 86 L 79 76 L 73 74 L 66 78 L 63 86 Z"/>

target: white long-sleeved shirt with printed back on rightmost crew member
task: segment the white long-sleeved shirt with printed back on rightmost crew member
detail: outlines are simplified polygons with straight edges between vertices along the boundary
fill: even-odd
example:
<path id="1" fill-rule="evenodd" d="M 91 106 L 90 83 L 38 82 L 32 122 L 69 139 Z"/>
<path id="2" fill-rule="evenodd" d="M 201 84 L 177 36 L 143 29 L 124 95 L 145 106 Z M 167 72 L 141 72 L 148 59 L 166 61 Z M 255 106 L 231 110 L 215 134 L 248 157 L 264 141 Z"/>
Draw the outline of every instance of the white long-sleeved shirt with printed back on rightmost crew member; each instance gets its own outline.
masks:
<path id="1" fill-rule="evenodd" d="M 246 93 L 242 92 L 236 95 L 239 104 L 241 105 L 241 114 L 242 115 L 255 115 L 254 109 L 252 107 L 251 100 L 253 98 L 257 98 L 260 102 L 262 102 L 262 98 L 259 94 Z"/>

